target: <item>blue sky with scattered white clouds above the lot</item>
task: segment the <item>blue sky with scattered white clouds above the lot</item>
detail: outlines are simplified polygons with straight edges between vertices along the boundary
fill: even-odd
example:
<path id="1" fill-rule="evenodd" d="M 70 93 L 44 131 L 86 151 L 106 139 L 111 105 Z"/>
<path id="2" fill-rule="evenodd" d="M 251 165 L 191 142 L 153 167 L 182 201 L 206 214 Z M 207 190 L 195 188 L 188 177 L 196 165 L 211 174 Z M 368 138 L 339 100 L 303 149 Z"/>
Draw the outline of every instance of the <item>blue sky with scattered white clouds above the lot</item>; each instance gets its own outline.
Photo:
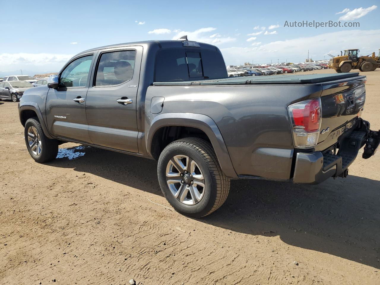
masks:
<path id="1" fill-rule="evenodd" d="M 55 72 L 73 55 L 108 44 L 189 40 L 219 47 L 227 65 L 329 59 L 341 50 L 380 48 L 380 1 L 61 1 L 0 10 L 0 76 Z M 341 21 L 359 27 L 291 27 L 292 22 Z M 287 24 L 286 24 L 287 23 Z M 285 26 L 284 26 L 285 25 Z M 10 32 L 6 27 L 12 27 Z M 7 33 L 9 32 L 9 33 Z M 9 73 L 9 74 L 8 74 Z M 29 74 L 34 75 L 34 74 Z"/>

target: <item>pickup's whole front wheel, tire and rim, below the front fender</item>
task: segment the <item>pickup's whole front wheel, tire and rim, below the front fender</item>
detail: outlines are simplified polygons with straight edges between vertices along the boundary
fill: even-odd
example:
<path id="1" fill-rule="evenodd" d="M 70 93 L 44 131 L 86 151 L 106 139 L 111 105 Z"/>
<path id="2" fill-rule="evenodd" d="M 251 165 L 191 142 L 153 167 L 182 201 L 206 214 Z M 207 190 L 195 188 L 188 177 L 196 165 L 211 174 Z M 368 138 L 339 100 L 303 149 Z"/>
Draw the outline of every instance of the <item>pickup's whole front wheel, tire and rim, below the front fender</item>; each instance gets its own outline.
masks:
<path id="1" fill-rule="evenodd" d="M 37 118 L 26 121 L 24 135 L 29 154 L 36 162 L 44 163 L 57 157 L 58 141 L 45 136 Z"/>

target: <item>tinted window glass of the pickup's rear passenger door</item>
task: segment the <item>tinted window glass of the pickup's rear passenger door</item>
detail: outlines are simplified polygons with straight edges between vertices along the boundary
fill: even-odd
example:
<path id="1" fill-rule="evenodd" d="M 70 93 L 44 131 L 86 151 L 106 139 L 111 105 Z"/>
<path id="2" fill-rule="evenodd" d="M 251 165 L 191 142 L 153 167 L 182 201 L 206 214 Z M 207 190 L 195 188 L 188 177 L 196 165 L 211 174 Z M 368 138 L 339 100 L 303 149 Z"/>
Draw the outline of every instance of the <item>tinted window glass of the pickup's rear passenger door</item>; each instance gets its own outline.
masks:
<path id="1" fill-rule="evenodd" d="M 130 81 L 135 67 L 136 51 L 115 51 L 101 55 L 95 86 L 117 85 Z"/>

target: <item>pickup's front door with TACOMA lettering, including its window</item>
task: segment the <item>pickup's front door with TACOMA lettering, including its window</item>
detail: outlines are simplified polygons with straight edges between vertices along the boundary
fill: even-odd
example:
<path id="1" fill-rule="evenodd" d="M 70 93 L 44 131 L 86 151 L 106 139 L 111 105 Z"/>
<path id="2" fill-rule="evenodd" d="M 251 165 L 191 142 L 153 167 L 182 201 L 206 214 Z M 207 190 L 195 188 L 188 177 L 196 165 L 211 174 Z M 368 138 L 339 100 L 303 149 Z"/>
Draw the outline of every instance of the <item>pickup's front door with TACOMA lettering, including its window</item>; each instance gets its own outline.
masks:
<path id="1" fill-rule="evenodd" d="M 73 59 L 58 75 L 60 87 L 49 89 L 46 119 L 54 136 L 91 142 L 86 119 L 86 94 L 94 54 Z"/>

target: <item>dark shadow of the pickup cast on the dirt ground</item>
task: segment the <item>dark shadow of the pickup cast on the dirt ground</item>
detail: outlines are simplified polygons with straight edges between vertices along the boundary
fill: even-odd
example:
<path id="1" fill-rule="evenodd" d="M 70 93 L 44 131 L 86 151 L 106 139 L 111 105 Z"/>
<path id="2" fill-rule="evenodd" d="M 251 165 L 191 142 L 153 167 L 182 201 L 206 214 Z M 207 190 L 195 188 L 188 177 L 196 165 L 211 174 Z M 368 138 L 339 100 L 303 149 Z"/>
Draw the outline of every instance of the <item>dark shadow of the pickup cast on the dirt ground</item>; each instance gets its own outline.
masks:
<path id="1" fill-rule="evenodd" d="M 153 160 L 80 146 L 60 149 L 49 165 L 161 194 Z M 380 268 L 377 180 L 348 176 L 320 185 L 232 180 L 226 203 L 196 220 L 239 233 L 279 236 L 289 245 Z"/>

